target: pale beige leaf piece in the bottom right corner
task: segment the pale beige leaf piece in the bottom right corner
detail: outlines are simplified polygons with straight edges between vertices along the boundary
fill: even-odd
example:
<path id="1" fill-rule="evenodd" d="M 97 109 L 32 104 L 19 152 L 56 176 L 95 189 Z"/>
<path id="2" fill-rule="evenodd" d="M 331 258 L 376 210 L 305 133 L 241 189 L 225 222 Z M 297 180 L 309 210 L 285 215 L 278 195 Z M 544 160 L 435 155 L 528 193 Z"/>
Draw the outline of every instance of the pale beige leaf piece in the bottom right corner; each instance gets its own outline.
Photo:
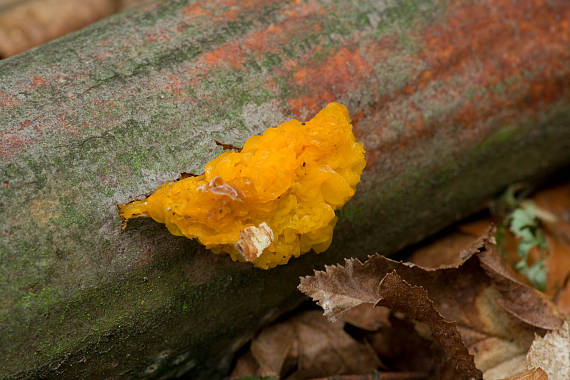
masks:
<path id="1" fill-rule="evenodd" d="M 529 368 L 542 368 L 549 380 L 570 380 L 570 323 L 537 336 L 527 355 Z"/>

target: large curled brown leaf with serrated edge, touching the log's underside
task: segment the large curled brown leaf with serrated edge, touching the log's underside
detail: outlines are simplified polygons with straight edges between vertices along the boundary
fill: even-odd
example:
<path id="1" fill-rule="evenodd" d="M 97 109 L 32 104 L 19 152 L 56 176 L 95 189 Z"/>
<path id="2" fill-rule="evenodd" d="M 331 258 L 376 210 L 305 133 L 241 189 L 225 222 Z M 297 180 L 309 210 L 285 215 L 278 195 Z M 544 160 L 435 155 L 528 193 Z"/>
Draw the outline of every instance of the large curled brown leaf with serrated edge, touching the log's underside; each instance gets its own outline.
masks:
<path id="1" fill-rule="evenodd" d="M 401 297 L 406 294 L 408 298 L 391 305 L 394 311 L 403 311 L 415 323 L 425 324 L 422 320 L 427 319 L 435 324 L 435 310 L 441 315 L 438 328 L 455 330 L 450 335 L 441 333 L 451 339 L 443 342 L 434 334 L 434 328 L 429 328 L 442 349 L 455 347 L 453 337 L 458 333 L 485 378 L 511 376 L 526 369 L 524 356 L 534 334 L 559 327 L 562 319 L 552 303 L 518 282 L 502 263 L 492 232 L 487 231 L 464 251 L 464 261 L 458 266 L 426 269 L 375 255 L 365 263 L 351 259 L 344 266 L 327 267 L 325 272 L 301 278 L 299 289 L 317 301 L 331 319 L 361 303 L 385 304 L 393 297 L 390 292 L 400 292 Z M 433 310 L 419 297 L 419 290 L 415 290 L 416 298 L 410 297 L 412 290 L 403 292 L 402 282 L 411 289 L 423 289 Z M 389 283 L 393 288 L 387 286 Z M 455 323 L 449 324 L 451 321 Z M 459 349 L 446 351 L 446 355 L 449 360 L 468 361 Z"/>

